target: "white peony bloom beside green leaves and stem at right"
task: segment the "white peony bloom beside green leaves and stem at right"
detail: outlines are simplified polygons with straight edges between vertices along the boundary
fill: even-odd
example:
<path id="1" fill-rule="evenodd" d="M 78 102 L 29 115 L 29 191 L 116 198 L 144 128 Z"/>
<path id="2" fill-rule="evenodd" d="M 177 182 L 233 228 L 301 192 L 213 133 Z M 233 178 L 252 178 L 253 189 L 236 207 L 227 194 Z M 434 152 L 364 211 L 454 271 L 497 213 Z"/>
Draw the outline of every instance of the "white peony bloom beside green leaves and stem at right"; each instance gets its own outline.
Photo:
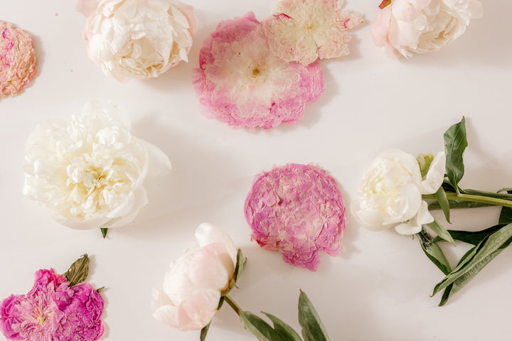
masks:
<path id="1" fill-rule="evenodd" d="M 354 214 L 370 230 L 395 227 L 400 234 L 420 232 L 422 224 L 434 221 L 422 194 L 437 192 L 445 162 L 444 152 L 437 153 L 422 178 L 414 156 L 396 149 L 380 153 L 363 177 Z"/>

